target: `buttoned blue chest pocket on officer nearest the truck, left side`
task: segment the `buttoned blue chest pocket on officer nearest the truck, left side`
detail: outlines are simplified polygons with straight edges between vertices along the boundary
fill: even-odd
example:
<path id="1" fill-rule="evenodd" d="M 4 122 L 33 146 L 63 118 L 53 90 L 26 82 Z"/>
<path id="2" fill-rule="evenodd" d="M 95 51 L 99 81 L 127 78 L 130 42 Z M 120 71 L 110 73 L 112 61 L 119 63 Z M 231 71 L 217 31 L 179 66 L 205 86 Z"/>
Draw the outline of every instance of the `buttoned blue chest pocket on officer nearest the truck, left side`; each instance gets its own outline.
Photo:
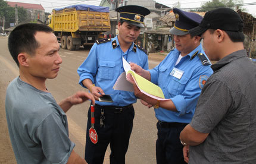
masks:
<path id="1" fill-rule="evenodd" d="M 114 61 L 99 61 L 98 77 L 113 80 L 115 73 Z"/>

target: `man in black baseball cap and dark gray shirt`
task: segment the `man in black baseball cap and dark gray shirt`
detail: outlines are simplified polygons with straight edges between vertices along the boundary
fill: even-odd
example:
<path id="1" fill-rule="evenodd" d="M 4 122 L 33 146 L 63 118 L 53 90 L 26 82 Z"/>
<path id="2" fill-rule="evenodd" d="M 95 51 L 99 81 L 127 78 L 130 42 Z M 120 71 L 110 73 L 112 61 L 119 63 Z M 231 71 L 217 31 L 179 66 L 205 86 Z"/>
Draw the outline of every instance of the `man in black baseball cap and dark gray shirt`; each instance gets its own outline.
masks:
<path id="1" fill-rule="evenodd" d="M 188 163 L 256 163 L 256 67 L 243 49 L 242 27 L 238 13 L 218 8 L 189 31 L 202 36 L 208 57 L 218 62 L 180 133 Z"/>

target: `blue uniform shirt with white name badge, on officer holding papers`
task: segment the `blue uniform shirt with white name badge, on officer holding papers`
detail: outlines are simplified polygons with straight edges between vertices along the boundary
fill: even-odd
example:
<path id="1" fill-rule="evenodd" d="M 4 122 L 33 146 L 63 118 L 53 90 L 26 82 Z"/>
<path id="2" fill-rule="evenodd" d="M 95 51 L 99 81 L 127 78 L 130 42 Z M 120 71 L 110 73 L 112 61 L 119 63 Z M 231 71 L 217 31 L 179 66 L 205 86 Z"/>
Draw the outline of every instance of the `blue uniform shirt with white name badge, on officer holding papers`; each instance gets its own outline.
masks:
<path id="1" fill-rule="evenodd" d="M 164 108 L 155 109 L 155 116 L 158 120 L 163 122 L 191 122 L 202 86 L 204 86 L 207 78 L 213 74 L 210 65 L 203 65 L 198 55 L 193 56 L 196 52 L 205 55 L 202 46 L 199 45 L 175 66 L 180 52 L 174 49 L 157 67 L 148 70 L 151 74 L 152 83 L 161 87 L 166 99 L 171 99 L 177 109 L 177 112 Z M 180 79 L 170 74 L 174 67 L 181 72 L 183 71 Z"/>

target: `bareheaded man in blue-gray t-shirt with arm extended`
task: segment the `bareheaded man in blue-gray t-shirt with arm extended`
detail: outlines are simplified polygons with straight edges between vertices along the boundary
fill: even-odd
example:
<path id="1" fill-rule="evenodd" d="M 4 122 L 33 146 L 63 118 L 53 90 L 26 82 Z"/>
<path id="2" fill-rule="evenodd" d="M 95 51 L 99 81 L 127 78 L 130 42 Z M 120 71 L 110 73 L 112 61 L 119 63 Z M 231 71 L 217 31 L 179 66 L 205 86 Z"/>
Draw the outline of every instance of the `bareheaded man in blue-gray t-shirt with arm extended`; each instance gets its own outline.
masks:
<path id="1" fill-rule="evenodd" d="M 77 92 L 60 103 L 45 86 L 55 78 L 62 62 L 60 45 L 52 29 L 29 23 L 15 27 L 8 48 L 20 75 L 9 84 L 5 111 L 11 143 L 17 163 L 86 163 L 74 152 L 68 138 L 65 112 L 88 99 L 90 93 Z"/>

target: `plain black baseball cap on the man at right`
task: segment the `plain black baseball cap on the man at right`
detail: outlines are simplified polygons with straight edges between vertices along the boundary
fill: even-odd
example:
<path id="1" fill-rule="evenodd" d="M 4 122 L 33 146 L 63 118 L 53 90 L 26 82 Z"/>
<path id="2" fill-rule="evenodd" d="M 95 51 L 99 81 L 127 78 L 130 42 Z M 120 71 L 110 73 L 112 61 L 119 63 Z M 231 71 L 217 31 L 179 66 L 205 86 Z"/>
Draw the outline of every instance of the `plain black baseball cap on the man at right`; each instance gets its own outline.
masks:
<path id="1" fill-rule="evenodd" d="M 206 12 L 199 26 L 189 30 L 189 33 L 193 36 L 201 35 L 207 29 L 242 32 L 243 20 L 230 8 L 217 8 Z"/>

